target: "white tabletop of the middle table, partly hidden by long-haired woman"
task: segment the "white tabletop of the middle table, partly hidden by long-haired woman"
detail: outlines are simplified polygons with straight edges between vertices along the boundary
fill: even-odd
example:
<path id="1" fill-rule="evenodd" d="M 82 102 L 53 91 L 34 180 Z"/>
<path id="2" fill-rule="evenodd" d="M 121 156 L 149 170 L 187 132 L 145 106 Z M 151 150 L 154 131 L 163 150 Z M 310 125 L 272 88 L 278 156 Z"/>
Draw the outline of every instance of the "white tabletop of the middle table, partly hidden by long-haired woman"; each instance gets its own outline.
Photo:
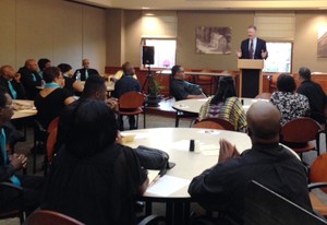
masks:
<path id="1" fill-rule="evenodd" d="M 208 100 L 208 98 L 195 98 L 195 99 L 184 99 L 184 100 L 178 100 L 173 104 L 172 108 L 179 111 L 186 111 L 186 112 L 193 112 L 198 114 L 201 106 L 205 104 Z M 243 100 L 243 109 L 245 112 L 250 108 L 250 106 L 253 103 L 256 103 L 258 100 L 266 100 L 266 99 L 255 99 L 255 98 L 240 98 L 240 100 Z"/>

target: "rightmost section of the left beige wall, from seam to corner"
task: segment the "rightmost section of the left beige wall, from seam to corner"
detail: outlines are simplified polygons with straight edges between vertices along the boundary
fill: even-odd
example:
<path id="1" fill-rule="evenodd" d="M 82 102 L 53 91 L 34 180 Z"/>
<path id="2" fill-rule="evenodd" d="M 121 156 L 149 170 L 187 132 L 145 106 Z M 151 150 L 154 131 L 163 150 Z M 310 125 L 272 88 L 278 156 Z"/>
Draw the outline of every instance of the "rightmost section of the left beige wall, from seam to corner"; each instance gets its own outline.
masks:
<path id="1" fill-rule="evenodd" d="M 106 42 L 106 10 L 83 7 L 83 58 L 99 73 L 105 73 Z"/>

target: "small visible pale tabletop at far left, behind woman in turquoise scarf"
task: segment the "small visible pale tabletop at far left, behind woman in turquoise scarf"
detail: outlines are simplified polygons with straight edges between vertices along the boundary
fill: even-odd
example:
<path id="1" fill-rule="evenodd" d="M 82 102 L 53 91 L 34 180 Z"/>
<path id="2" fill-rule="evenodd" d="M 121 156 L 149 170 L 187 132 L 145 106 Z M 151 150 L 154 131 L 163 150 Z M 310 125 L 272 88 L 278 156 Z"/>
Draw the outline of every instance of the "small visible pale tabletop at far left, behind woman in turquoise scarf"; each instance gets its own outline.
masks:
<path id="1" fill-rule="evenodd" d="M 34 100 L 13 99 L 14 115 L 11 119 L 21 119 L 32 117 L 37 114 L 34 107 Z"/>

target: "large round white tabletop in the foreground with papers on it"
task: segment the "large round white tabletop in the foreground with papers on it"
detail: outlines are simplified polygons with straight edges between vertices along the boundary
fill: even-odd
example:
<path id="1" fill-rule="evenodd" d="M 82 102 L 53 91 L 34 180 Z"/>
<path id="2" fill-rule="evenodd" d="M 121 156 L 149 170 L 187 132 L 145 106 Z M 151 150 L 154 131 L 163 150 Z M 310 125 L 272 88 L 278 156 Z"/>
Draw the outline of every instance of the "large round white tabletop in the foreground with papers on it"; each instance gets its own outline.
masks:
<path id="1" fill-rule="evenodd" d="M 241 153 L 252 146 L 245 133 L 196 129 L 196 128 L 154 128 L 123 131 L 123 135 L 136 134 L 131 147 L 145 145 L 167 152 L 169 161 L 175 163 L 167 175 L 147 189 L 145 197 L 190 198 L 189 185 L 193 177 L 214 166 L 218 162 L 219 140 L 226 139 L 235 144 Z M 190 140 L 195 140 L 195 152 L 190 152 Z"/>

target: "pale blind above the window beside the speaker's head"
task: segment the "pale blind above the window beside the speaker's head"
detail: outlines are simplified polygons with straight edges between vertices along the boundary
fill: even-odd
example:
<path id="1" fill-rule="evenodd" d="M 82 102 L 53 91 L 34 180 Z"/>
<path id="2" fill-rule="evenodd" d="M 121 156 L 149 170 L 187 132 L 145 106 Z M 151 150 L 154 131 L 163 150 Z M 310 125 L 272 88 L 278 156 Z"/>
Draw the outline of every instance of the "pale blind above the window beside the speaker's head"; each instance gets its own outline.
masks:
<path id="1" fill-rule="evenodd" d="M 265 40 L 292 42 L 295 36 L 295 14 L 255 13 L 254 25 L 257 36 Z"/>

